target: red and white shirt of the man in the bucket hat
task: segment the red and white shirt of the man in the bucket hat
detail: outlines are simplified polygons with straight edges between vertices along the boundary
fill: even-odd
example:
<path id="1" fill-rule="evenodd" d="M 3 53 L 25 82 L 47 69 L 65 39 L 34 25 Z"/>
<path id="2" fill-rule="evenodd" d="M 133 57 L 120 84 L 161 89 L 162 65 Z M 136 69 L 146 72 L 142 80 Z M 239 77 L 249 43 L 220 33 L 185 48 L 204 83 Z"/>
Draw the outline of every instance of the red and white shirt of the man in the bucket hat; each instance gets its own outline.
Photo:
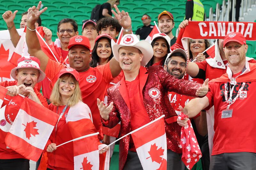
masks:
<path id="1" fill-rule="evenodd" d="M 0 85 L 4 86 L 4 87 L 17 85 L 17 81 L 4 81 L 4 82 L 0 82 Z M 41 101 L 41 103 L 44 105 L 44 107 L 48 108 L 48 103 L 47 103 L 46 99 L 42 96 L 42 94 L 40 92 L 38 92 L 35 87 L 34 87 L 34 91 L 35 91 L 37 97 L 39 98 L 39 100 Z M 6 95 L 4 97 L 4 101 L 3 101 L 1 108 L 4 106 L 6 106 L 6 107 L 3 112 L 2 111 L 0 112 L 1 116 L 4 116 L 5 120 L 7 121 L 4 126 L 7 126 L 7 123 L 8 124 L 13 123 L 16 115 L 19 112 L 22 101 L 23 101 L 23 98 L 21 96 L 11 97 L 9 95 Z M 2 121 L 2 120 L 0 120 L 0 121 Z M 4 139 L 7 135 L 7 132 L 5 129 L 6 127 L 4 127 L 4 126 L 0 127 L 0 159 L 17 159 L 17 158 L 26 159 L 19 153 L 13 151 L 10 148 L 7 148 L 7 146 L 4 142 Z M 4 128 L 5 130 L 2 128 Z"/>

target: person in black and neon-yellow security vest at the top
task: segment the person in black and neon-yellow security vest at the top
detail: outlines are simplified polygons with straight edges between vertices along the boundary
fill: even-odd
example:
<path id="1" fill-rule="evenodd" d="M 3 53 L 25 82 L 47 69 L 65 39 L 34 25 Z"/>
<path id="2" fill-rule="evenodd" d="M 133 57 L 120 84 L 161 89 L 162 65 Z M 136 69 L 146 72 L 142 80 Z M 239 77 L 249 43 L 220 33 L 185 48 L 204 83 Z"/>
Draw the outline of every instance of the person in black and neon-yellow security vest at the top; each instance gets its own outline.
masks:
<path id="1" fill-rule="evenodd" d="M 187 0 L 185 19 L 204 21 L 204 5 L 200 0 Z"/>

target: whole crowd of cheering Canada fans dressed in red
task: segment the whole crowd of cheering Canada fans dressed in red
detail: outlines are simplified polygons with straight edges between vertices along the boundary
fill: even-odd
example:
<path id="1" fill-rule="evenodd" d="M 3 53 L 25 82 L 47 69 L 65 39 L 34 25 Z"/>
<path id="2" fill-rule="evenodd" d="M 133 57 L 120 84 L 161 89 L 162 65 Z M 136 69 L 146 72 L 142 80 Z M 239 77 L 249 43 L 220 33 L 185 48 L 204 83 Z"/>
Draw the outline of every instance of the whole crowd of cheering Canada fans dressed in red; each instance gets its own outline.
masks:
<path id="1" fill-rule="evenodd" d="M 199 2 L 194 1 L 194 5 Z M 224 40 L 216 40 L 215 46 L 219 54 L 215 54 L 212 58 L 219 57 L 225 65 L 225 69 L 219 69 L 206 61 L 209 56 L 203 52 L 211 46 L 207 39 L 189 40 L 188 55 L 182 49 L 170 50 L 177 40 L 172 34 L 175 18 L 171 12 L 163 11 L 158 15 L 157 26 L 161 33 L 154 34 L 148 42 L 144 39 L 154 27 L 151 25 L 151 17 L 148 14 L 142 15 L 141 20 L 144 26 L 132 34 L 132 18 L 129 16 L 129 11 L 119 11 L 118 4 L 119 0 L 109 0 L 102 4 L 99 20 L 85 18 L 82 21 L 82 30 L 78 30 L 75 20 L 61 19 L 56 30 L 58 39 L 54 42 L 52 41 L 53 30 L 43 27 L 43 38 L 56 58 L 49 55 L 51 53 L 47 45 L 40 44 L 35 32 L 38 27 L 44 25 L 41 23 L 40 15 L 47 10 L 47 7 L 40 10 L 41 2 L 39 2 L 37 7 L 33 6 L 24 12 L 21 16 L 20 28 L 27 28 L 26 42 L 31 56 L 21 57 L 18 60 L 18 66 L 12 69 L 11 76 L 15 81 L 0 82 L 1 86 L 9 89 L 7 92 L 9 97 L 6 97 L 1 107 L 7 105 L 7 100 L 11 99 L 19 103 L 19 99 L 15 98 L 18 94 L 44 105 L 59 115 L 68 114 L 72 107 L 79 106 L 81 114 L 92 113 L 93 123 L 88 124 L 88 129 L 84 130 L 88 134 L 100 132 L 98 139 L 104 144 L 110 144 L 111 137 L 104 132 L 102 126 L 113 128 L 121 122 L 119 132 L 121 137 L 165 115 L 168 170 L 185 169 L 178 145 L 181 126 L 186 126 L 188 120 L 178 120 L 178 123 L 177 119 L 171 120 L 176 116 L 176 112 L 181 111 L 191 117 L 203 154 L 201 160 L 204 170 L 255 169 L 255 144 L 252 144 L 253 138 L 248 137 L 254 135 L 247 133 L 242 135 L 246 128 L 241 127 L 238 130 L 239 127 L 233 127 L 237 126 L 237 122 L 245 121 L 243 108 L 247 107 L 246 111 L 248 110 L 244 114 L 253 114 L 253 108 L 249 110 L 249 105 L 241 103 L 241 100 L 235 102 L 241 89 L 240 92 L 236 90 L 236 95 L 232 96 L 234 87 L 235 89 L 242 87 L 242 91 L 247 92 L 247 100 L 250 100 L 248 98 L 252 98 L 251 96 L 255 93 L 249 85 L 242 85 L 243 82 L 247 82 L 246 84 L 250 86 L 255 84 L 254 75 L 251 76 L 252 81 L 246 76 L 254 72 L 255 60 L 245 58 L 248 46 L 243 35 L 235 33 L 236 38 L 226 35 Z M 111 8 L 115 8 L 116 12 Z M 200 18 L 193 16 L 193 11 L 187 11 L 192 20 Z M 17 11 L 6 11 L 2 15 L 14 47 L 20 40 L 13 22 L 17 17 L 16 13 Z M 188 20 L 180 23 L 179 29 L 186 26 L 188 26 Z M 119 34 L 121 30 L 123 30 L 122 34 Z M 79 35 L 80 31 L 82 35 Z M 120 39 L 119 42 L 117 37 Z M 36 67 L 26 65 L 28 58 Z M 186 77 L 185 73 L 187 79 L 183 78 Z M 228 75 L 223 77 L 222 74 L 225 73 Z M 222 79 L 215 80 L 219 77 Z M 236 82 L 230 84 L 228 81 L 236 78 L 238 84 Z M 208 92 L 209 79 L 214 81 L 209 83 Z M 39 82 L 42 83 L 42 94 L 35 87 Z M 224 83 L 221 84 L 222 82 L 225 83 L 225 87 Z M 152 88 L 157 89 L 157 94 L 149 93 Z M 248 94 L 248 88 L 252 89 L 252 94 Z M 225 98 L 222 100 L 224 91 L 220 96 L 220 90 L 225 91 L 225 97 L 228 97 L 226 93 L 232 91 L 230 103 L 226 103 L 230 100 L 224 100 Z M 191 102 L 188 103 L 189 100 Z M 240 104 L 243 108 L 239 106 L 236 109 L 231 105 L 233 103 L 237 107 Z M 215 136 L 213 148 L 211 146 L 209 148 L 205 110 L 212 106 L 215 107 Z M 8 112 L 8 109 L 10 108 L 6 107 L 5 112 Z M 241 147 L 237 144 L 239 141 L 236 141 L 235 137 L 226 138 L 227 133 L 233 132 L 232 128 L 227 127 L 227 124 L 230 125 L 228 119 L 226 121 L 220 118 L 224 110 L 227 110 L 227 116 L 230 119 L 237 116 L 238 120 L 233 119 L 231 124 L 234 131 L 237 130 L 235 133 L 249 140 L 241 144 Z M 252 122 L 256 118 L 254 115 L 247 116 L 252 117 Z M 45 146 L 44 152 L 48 154 L 47 169 L 49 170 L 74 168 L 72 143 L 67 144 L 65 148 L 56 148 L 56 145 L 72 139 L 65 119 L 66 116 L 62 116 Z M 246 123 L 243 122 L 243 126 L 244 124 Z M 250 131 L 251 128 L 248 127 L 248 130 Z M 253 133 L 253 131 L 250 132 Z M 0 169 L 28 170 L 28 159 L 6 148 L 4 135 L 6 133 L 1 132 Z M 119 169 L 142 169 L 132 137 L 122 139 L 119 148 Z M 100 153 L 108 149 L 113 152 L 113 148 L 107 147 L 100 150 Z M 212 155 L 211 164 L 210 155 Z M 39 164 L 40 160 L 37 162 L 37 165 Z"/>

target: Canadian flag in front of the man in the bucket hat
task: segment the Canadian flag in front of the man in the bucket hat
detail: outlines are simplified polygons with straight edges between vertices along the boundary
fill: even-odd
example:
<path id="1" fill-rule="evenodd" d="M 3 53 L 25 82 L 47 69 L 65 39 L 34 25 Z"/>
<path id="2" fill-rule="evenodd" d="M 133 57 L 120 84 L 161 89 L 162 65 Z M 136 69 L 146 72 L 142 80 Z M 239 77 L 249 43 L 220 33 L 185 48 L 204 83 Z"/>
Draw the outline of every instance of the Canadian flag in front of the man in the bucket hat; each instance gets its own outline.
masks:
<path id="1" fill-rule="evenodd" d="M 5 144 L 25 158 L 37 161 L 58 118 L 51 110 L 24 98 Z"/>

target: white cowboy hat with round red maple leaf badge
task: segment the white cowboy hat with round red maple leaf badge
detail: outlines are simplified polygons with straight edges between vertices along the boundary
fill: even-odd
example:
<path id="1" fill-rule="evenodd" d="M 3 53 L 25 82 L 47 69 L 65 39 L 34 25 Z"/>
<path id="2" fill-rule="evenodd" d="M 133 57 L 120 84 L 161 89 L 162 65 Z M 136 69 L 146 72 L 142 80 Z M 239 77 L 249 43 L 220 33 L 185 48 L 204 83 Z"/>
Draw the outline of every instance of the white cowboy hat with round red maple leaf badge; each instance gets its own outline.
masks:
<path id="1" fill-rule="evenodd" d="M 142 40 L 140 41 L 135 34 L 125 34 L 120 44 L 117 44 L 114 40 L 111 40 L 111 47 L 113 55 L 116 61 L 119 62 L 119 53 L 118 50 L 121 47 L 135 47 L 138 48 L 141 53 L 143 54 L 142 61 L 140 62 L 141 66 L 145 66 L 149 60 L 153 57 L 154 51 L 152 46 L 149 44 L 148 41 Z"/>

